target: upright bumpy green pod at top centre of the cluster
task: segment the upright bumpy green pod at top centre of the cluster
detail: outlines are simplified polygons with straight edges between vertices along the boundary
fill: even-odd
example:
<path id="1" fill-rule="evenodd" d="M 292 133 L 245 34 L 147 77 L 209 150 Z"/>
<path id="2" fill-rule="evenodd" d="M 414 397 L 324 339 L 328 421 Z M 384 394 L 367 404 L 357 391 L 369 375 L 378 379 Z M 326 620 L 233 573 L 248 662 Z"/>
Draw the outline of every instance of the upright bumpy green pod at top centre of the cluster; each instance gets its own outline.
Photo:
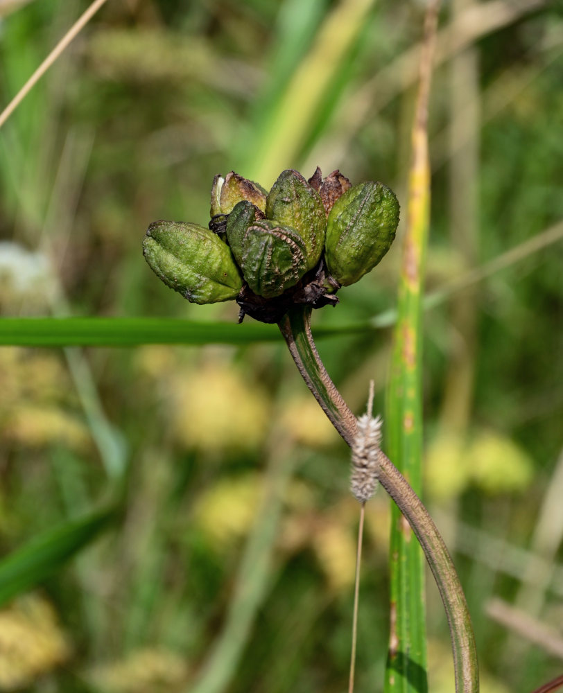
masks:
<path id="1" fill-rule="evenodd" d="M 327 216 L 319 193 L 300 173 L 288 169 L 279 175 L 268 193 L 266 217 L 300 234 L 306 248 L 306 268 L 315 267 L 324 245 Z"/>

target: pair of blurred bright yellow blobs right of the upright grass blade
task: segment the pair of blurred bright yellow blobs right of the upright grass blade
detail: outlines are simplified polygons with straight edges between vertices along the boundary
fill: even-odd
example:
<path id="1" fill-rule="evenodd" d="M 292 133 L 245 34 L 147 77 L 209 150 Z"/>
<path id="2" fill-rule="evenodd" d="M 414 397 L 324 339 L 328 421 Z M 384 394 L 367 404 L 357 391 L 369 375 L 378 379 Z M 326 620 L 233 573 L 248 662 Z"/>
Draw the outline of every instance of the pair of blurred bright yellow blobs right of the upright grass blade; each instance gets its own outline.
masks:
<path id="1" fill-rule="evenodd" d="M 434 498 L 452 498 L 474 484 L 486 493 L 525 491 L 533 462 L 512 439 L 494 431 L 478 432 L 469 441 L 441 435 L 428 447 L 427 489 Z"/>

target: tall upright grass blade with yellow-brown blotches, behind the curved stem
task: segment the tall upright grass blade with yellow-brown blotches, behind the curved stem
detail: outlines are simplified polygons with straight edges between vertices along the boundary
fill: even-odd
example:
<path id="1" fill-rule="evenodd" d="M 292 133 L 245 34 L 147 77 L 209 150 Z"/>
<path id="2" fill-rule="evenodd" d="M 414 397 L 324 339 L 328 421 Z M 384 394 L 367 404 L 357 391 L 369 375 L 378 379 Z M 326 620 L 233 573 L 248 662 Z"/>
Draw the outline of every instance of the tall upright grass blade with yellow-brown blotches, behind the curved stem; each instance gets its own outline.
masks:
<path id="1" fill-rule="evenodd" d="M 426 121 L 438 5 L 438 1 L 431 3 L 426 16 L 426 50 L 421 58 L 412 132 L 408 221 L 387 402 L 389 455 L 418 495 L 422 486 L 422 291 L 430 210 Z M 424 556 L 395 507 L 391 518 L 391 632 L 385 690 L 425 693 L 428 681 Z"/>

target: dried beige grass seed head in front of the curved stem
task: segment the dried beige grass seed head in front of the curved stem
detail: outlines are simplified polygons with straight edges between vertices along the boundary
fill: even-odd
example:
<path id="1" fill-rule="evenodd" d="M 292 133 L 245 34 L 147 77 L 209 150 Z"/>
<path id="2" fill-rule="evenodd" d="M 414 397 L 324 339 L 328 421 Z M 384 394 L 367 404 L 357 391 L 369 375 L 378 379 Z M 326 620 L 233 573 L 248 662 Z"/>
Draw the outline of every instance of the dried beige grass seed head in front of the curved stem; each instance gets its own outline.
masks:
<path id="1" fill-rule="evenodd" d="M 352 476 L 350 491 L 354 498 L 365 503 L 372 498 L 377 488 L 379 452 L 381 447 L 381 416 L 372 416 L 373 381 L 370 383 L 370 398 L 367 412 L 358 419 L 358 433 L 352 443 Z"/>

